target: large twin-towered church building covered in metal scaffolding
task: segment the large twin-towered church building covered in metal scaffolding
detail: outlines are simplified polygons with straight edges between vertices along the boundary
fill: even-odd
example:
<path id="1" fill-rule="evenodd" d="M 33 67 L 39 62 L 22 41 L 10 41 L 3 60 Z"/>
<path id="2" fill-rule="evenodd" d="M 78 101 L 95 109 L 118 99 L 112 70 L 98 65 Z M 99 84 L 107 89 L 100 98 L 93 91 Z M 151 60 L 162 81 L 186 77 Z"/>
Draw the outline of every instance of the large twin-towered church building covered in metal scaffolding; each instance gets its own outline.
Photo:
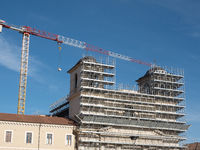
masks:
<path id="1" fill-rule="evenodd" d="M 185 149 L 184 72 L 152 65 L 137 86 L 115 83 L 115 59 L 83 57 L 52 115 L 79 123 L 78 150 Z"/>

